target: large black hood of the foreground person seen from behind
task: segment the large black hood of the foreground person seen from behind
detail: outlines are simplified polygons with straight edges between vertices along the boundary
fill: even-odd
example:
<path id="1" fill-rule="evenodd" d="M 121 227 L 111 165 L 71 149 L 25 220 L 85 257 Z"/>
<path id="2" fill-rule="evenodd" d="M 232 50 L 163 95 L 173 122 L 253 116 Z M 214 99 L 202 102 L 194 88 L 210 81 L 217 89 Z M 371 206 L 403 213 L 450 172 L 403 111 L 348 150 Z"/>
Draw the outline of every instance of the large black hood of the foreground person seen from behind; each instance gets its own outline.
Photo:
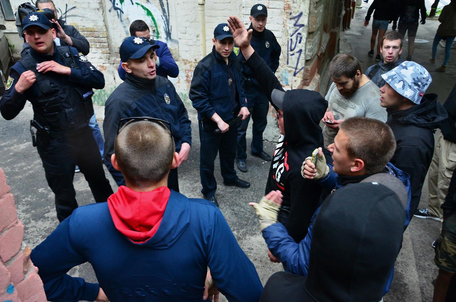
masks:
<path id="1" fill-rule="evenodd" d="M 404 206 L 378 182 L 349 184 L 321 206 L 306 292 L 315 301 L 378 302 L 402 244 Z"/>

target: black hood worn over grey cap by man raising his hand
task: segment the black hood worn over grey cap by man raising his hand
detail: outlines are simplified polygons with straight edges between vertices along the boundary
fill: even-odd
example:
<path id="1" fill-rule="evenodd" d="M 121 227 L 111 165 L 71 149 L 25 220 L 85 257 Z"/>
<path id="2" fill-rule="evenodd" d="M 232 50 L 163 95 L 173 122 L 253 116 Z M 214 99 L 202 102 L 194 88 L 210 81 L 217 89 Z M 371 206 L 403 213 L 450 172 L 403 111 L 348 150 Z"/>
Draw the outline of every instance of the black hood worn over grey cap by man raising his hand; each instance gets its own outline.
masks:
<path id="1" fill-rule="evenodd" d="M 328 102 L 316 91 L 308 89 L 285 91 L 284 126 L 286 141 L 290 148 L 309 148 L 313 151 L 323 146 L 319 123 L 327 108 Z M 307 156 L 309 155 L 304 158 Z"/>

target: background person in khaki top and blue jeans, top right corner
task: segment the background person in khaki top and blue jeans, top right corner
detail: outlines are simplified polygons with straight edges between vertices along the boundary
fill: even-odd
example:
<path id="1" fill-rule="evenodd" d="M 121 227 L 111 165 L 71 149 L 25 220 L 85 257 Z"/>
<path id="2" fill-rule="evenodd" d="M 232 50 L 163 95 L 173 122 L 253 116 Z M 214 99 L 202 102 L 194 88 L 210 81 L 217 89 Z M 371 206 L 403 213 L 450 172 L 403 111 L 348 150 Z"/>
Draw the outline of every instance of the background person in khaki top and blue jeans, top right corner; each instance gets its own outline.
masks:
<path id="1" fill-rule="evenodd" d="M 445 59 L 443 60 L 442 66 L 436 69 L 442 73 L 445 72 L 446 64 L 450 60 L 451 46 L 456 36 L 456 0 L 451 0 L 449 5 L 445 5 L 439 16 L 439 28 L 434 36 L 434 42 L 432 43 L 432 57 L 429 58 L 431 63 L 435 63 L 435 56 L 437 55 L 437 45 L 440 40 L 445 40 Z"/>

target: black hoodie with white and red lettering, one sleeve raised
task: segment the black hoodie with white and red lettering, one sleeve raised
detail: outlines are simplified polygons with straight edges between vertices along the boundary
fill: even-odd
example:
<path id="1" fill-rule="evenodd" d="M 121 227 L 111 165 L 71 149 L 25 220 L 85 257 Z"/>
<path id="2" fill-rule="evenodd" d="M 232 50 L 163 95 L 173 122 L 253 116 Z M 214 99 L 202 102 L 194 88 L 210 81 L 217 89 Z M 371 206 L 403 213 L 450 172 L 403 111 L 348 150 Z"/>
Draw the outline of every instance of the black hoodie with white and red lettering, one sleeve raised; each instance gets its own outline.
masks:
<path id="1" fill-rule="evenodd" d="M 272 90 L 284 91 L 279 80 L 257 52 L 245 63 L 275 107 L 271 101 Z M 321 94 L 307 89 L 292 89 L 285 92 L 284 108 L 281 108 L 284 112 L 286 137 L 281 135 L 276 146 L 266 193 L 272 190 L 282 192 L 284 197 L 279 221 L 298 243 L 307 234 L 321 195 L 321 188 L 313 180 L 301 176 L 301 166 L 312 151 L 323 146 L 323 135 L 318 124 L 327 107 L 328 102 Z"/>

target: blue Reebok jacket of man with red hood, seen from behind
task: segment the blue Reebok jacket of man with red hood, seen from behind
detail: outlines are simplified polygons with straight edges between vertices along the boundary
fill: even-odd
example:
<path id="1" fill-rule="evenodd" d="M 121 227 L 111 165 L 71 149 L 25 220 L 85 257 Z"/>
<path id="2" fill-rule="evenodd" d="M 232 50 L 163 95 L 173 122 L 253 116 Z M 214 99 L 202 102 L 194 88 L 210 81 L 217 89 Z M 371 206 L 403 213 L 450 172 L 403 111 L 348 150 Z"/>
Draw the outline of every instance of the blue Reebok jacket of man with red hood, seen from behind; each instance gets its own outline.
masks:
<path id="1" fill-rule="evenodd" d="M 207 266 L 229 301 L 257 302 L 263 291 L 220 210 L 174 191 L 145 243 L 116 229 L 108 203 L 93 203 L 74 210 L 30 257 L 50 301 L 93 301 L 99 287 L 112 302 L 203 301 Z M 99 285 L 67 275 L 85 262 Z"/>

